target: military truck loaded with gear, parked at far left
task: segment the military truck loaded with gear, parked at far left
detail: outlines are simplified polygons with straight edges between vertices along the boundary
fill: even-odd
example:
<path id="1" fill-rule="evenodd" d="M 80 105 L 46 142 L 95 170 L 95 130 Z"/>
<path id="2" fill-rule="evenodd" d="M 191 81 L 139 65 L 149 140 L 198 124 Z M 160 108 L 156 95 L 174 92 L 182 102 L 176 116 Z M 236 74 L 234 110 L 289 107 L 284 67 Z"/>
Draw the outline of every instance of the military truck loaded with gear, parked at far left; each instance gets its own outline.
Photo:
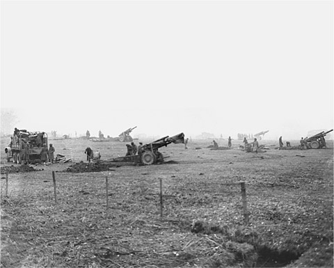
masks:
<path id="1" fill-rule="evenodd" d="M 40 163 L 40 152 L 43 146 L 47 146 L 47 134 L 45 132 L 27 132 L 25 129 L 15 129 L 10 136 L 10 144 L 5 148 L 7 161 L 13 159 L 13 163 Z M 29 155 L 26 159 L 26 155 Z"/>

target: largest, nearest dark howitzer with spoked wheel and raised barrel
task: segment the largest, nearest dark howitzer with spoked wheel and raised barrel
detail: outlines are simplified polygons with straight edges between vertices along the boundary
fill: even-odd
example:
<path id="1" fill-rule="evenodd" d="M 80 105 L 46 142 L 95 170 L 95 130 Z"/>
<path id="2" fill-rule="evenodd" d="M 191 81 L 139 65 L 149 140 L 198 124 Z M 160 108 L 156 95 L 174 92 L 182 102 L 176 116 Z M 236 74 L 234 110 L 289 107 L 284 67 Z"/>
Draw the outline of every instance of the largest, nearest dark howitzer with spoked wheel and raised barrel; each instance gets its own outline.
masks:
<path id="1" fill-rule="evenodd" d="M 152 143 L 144 144 L 138 152 L 138 155 L 129 155 L 125 157 L 114 158 L 115 162 L 135 162 L 144 165 L 151 165 L 157 163 L 163 163 L 164 157 L 161 152 L 158 151 L 159 148 L 167 146 L 170 143 L 184 143 L 184 134 L 180 133 L 175 136 L 164 136 L 157 141 Z"/>

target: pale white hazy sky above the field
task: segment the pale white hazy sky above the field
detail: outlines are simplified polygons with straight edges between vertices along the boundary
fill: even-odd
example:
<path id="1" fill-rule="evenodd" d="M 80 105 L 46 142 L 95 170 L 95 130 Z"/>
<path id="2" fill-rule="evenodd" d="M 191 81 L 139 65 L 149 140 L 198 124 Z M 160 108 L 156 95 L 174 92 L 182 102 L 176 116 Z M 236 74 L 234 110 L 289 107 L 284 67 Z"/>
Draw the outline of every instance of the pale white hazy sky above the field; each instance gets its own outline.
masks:
<path id="1" fill-rule="evenodd" d="M 1 108 L 78 135 L 332 129 L 333 1 L 1 1 Z"/>

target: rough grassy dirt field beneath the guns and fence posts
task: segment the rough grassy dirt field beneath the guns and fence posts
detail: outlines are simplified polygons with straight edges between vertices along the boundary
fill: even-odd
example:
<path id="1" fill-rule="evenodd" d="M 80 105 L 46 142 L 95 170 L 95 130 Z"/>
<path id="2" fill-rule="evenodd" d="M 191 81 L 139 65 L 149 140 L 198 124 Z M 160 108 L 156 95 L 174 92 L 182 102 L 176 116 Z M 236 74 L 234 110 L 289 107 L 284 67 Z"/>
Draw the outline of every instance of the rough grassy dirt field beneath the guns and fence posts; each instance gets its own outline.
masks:
<path id="1" fill-rule="evenodd" d="M 1 173 L 1 267 L 333 267 L 333 142 L 277 150 L 262 139 L 269 149 L 255 154 L 189 141 L 159 149 L 166 164 L 80 173 L 68 168 L 87 146 L 112 159 L 126 143 L 49 143 L 72 163 L 9 173 L 8 196 Z M 1 171 L 11 165 L 2 153 Z"/>

